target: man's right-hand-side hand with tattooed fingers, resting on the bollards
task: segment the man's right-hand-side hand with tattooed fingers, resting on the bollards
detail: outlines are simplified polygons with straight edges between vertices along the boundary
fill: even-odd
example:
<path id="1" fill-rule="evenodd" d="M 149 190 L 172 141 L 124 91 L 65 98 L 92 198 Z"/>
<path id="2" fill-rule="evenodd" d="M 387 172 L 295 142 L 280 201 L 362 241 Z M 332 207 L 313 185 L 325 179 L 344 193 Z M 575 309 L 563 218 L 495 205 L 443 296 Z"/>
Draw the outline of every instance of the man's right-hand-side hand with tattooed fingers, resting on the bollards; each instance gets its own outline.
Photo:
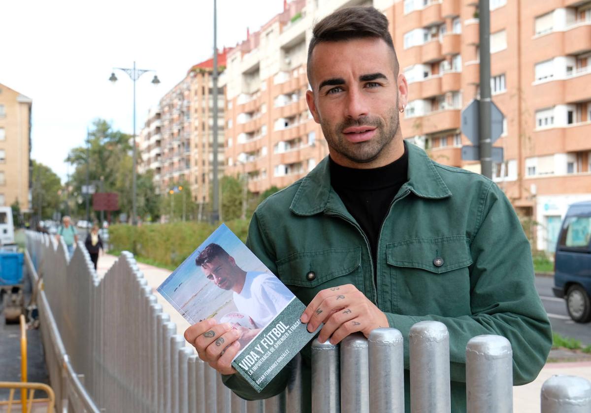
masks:
<path id="1" fill-rule="evenodd" d="M 386 314 L 352 284 L 320 291 L 304 310 L 301 322 L 308 323 L 309 332 L 324 323 L 318 341 L 324 343 L 330 337 L 333 345 L 351 333 L 369 337 L 372 330 L 389 326 Z"/>

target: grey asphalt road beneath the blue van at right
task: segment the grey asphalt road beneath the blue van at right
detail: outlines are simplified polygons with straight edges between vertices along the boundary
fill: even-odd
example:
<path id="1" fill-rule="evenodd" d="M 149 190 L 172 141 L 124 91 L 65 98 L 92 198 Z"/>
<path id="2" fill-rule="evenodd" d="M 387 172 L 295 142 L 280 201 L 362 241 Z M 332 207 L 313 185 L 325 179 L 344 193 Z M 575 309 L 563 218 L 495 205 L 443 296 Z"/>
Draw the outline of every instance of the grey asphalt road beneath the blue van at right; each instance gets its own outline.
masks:
<path id="1" fill-rule="evenodd" d="M 554 297 L 553 277 L 535 277 L 535 288 L 540 294 L 544 308 L 550 318 L 552 330 L 564 337 L 573 337 L 585 345 L 591 345 L 591 323 L 575 323 L 566 312 L 564 299 Z"/>

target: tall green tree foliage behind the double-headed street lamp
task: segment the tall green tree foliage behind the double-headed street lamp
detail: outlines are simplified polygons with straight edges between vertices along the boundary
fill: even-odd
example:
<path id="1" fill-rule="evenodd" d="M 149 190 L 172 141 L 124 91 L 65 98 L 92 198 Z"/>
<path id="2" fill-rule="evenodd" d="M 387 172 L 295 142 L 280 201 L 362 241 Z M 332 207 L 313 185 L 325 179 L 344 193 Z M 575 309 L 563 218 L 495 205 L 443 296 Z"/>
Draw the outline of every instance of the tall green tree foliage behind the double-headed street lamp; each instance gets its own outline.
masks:
<path id="1" fill-rule="evenodd" d="M 75 166 L 70 177 L 69 206 L 74 215 L 85 214 L 82 185 L 86 185 L 86 165 L 88 162 L 89 182 L 104 192 L 119 194 L 119 212 L 131 216 L 132 209 L 132 146 L 130 136 L 113 130 L 111 124 L 103 119 L 93 123 L 89 142 L 70 150 L 66 162 Z M 138 165 L 141 158 L 138 156 Z M 155 196 L 153 172 L 137 173 L 137 213 L 142 219 L 154 220 L 160 216 L 160 197 Z"/>

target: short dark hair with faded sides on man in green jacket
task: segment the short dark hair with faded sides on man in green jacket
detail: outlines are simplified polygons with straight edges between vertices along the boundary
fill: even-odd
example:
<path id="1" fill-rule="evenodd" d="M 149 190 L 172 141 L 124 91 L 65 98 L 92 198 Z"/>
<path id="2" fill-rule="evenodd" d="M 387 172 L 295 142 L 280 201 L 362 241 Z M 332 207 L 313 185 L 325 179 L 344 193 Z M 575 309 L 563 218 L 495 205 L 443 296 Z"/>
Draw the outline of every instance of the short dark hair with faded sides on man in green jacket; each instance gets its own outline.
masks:
<path id="1" fill-rule="evenodd" d="M 339 9 L 314 25 L 308 47 L 308 81 L 311 73 L 311 57 L 314 47 L 322 42 L 337 42 L 361 38 L 380 38 L 392 50 L 394 76 L 398 76 L 398 57 L 392 36 L 388 31 L 388 19 L 374 7 L 348 7 Z"/>

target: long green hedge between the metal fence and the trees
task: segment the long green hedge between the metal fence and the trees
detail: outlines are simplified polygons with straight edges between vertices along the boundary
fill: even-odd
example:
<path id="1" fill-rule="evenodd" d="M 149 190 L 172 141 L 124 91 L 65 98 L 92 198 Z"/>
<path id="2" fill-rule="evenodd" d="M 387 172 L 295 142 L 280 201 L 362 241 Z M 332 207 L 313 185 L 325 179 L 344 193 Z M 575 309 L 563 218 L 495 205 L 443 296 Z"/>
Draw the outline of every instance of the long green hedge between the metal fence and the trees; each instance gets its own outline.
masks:
<path id="1" fill-rule="evenodd" d="M 248 222 L 245 219 L 225 222 L 242 242 L 246 241 Z M 111 225 L 109 244 L 114 251 L 131 251 L 139 258 L 155 264 L 178 266 L 191 254 L 217 225 L 202 222 L 173 222 L 171 224 Z"/>

